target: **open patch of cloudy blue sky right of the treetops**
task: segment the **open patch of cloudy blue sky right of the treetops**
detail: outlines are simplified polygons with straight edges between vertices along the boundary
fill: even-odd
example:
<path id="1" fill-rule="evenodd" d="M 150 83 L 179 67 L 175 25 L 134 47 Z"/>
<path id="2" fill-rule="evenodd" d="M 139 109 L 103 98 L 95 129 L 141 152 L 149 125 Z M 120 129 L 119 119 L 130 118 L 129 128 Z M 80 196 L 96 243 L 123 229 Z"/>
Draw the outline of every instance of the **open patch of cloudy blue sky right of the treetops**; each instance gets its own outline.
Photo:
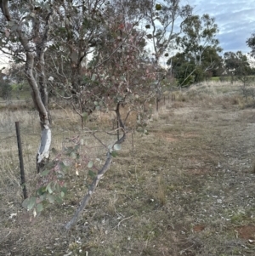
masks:
<path id="1" fill-rule="evenodd" d="M 249 53 L 246 39 L 255 32 L 254 0 L 182 0 L 195 6 L 193 14 L 209 14 L 216 19 L 218 39 L 224 52 Z"/>

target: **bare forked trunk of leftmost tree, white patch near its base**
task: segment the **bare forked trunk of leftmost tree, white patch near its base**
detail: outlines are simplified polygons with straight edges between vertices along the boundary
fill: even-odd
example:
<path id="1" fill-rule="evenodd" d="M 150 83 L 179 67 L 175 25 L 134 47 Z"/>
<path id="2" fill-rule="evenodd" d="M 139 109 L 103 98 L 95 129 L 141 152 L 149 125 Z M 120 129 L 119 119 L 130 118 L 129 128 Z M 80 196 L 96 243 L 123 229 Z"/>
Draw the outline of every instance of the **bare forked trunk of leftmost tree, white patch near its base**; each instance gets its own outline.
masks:
<path id="1" fill-rule="evenodd" d="M 9 14 L 8 1 L 0 0 L 0 8 L 5 16 L 6 20 L 12 20 Z M 33 22 L 34 37 L 26 37 L 22 27 L 19 26 L 16 30 L 17 37 L 19 37 L 20 43 L 24 48 L 26 54 L 26 78 L 31 87 L 31 97 L 35 107 L 39 113 L 41 123 L 41 142 L 37 152 L 37 172 L 39 172 L 49 160 L 49 148 L 51 145 L 51 129 L 50 129 L 50 116 L 48 112 L 48 90 L 47 81 L 44 73 L 44 51 L 46 43 L 48 42 L 48 33 L 50 31 L 50 20 L 53 20 L 54 9 L 48 14 L 45 19 L 44 29 L 42 36 L 38 34 L 39 27 L 42 26 L 40 17 L 35 17 Z M 14 20 L 15 21 L 15 20 Z M 31 46 L 36 43 L 36 47 Z M 37 71 L 38 71 L 38 83 L 36 77 L 34 77 L 33 71 L 35 69 L 35 59 L 37 59 Z"/>

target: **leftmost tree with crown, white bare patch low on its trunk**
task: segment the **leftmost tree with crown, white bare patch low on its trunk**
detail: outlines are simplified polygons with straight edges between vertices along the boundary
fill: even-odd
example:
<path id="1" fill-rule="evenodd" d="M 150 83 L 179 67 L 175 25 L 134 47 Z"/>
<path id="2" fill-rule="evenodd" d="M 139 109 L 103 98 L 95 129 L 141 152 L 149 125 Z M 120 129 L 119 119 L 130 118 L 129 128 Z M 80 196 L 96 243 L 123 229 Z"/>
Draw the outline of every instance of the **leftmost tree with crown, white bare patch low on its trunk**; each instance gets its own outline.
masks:
<path id="1" fill-rule="evenodd" d="M 51 40 L 56 9 L 48 2 L 0 1 L 1 47 L 17 61 L 26 63 L 26 79 L 31 97 L 37 108 L 42 128 L 41 143 L 37 152 L 37 170 L 49 159 L 51 144 L 48 88 L 45 74 L 45 52 Z"/>

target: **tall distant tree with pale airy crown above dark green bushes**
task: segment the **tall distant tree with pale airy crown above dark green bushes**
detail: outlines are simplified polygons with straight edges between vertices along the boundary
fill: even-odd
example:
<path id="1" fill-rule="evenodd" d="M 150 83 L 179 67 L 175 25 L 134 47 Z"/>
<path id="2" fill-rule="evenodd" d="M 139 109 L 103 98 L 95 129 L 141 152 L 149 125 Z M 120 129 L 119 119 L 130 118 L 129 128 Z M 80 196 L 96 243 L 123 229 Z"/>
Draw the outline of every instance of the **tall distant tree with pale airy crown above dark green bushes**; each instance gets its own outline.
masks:
<path id="1" fill-rule="evenodd" d="M 215 19 L 209 14 L 190 15 L 182 23 L 182 34 L 176 38 L 180 54 L 167 61 L 173 65 L 173 73 L 180 86 L 192 82 L 200 82 L 207 77 L 212 77 L 220 68 L 222 48 L 218 46 L 218 26 Z M 182 56 L 182 61 L 174 67 L 174 62 Z M 174 71 L 174 69 L 176 69 Z"/>

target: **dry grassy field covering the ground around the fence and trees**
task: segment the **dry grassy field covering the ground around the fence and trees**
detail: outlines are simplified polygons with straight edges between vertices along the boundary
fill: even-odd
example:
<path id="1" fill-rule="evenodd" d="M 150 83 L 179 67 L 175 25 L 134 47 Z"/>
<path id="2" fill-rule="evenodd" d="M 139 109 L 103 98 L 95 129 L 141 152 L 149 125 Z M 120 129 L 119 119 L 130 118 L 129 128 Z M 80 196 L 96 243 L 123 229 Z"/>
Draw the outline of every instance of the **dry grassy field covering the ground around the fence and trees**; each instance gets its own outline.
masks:
<path id="1" fill-rule="evenodd" d="M 37 113 L 0 111 L 0 255 L 254 255 L 255 111 L 247 107 L 253 100 L 228 82 L 173 94 L 152 116 L 149 135 L 129 134 L 69 231 L 62 227 L 87 191 L 88 168 L 71 169 L 64 203 L 48 205 L 34 219 L 21 207 L 14 122 L 20 120 L 31 193 L 37 185 Z M 104 158 L 76 114 L 55 110 L 53 120 L 54 148 L 79 135 L 81 154 Z M 111 127 L 112 117 L 98 115 L 88 126 L 101 123 Z M 99 138 L 107 145 L 113 140 L 104 133 Z"/>

